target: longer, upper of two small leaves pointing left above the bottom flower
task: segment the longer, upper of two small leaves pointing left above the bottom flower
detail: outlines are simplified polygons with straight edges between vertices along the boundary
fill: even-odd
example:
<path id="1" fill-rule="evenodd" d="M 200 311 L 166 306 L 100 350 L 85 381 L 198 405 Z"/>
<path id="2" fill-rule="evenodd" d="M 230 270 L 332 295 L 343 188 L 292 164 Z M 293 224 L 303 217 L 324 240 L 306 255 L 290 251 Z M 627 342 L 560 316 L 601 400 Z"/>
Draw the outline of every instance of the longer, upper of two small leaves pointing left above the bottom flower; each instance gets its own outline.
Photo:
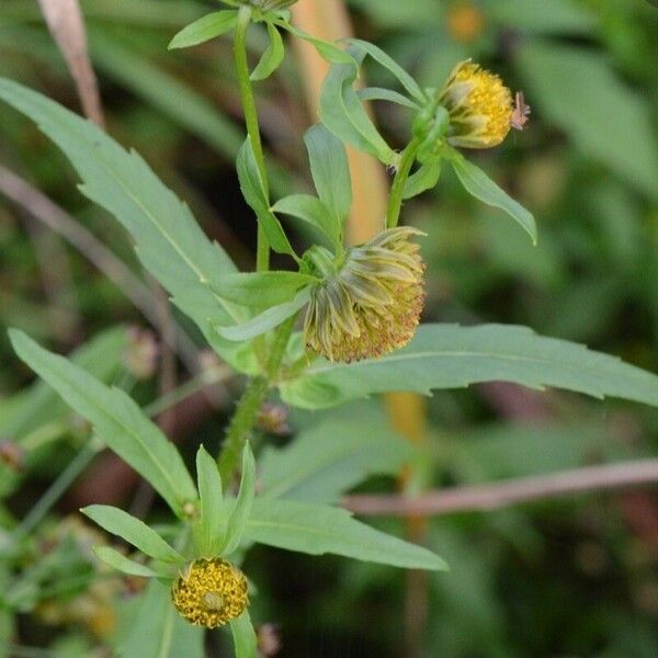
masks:
<path id="1" fill-rule="evenodd" d="M 118 508 L 107 504 L 90 504 L 80 511 L 103 530 L 125 540 L 149 557 L 174 564 L 185 561 L 185 558 L 155 530 Z"/>

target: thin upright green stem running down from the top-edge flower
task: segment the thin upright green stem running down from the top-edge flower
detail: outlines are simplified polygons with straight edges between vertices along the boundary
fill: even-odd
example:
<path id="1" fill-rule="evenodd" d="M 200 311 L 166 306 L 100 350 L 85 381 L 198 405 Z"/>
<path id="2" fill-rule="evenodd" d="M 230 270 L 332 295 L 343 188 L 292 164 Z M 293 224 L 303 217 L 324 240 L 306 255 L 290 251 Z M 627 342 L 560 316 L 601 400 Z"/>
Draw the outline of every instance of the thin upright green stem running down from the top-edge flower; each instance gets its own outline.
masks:
<path id="1" fill-rule="evenodd" d="M 263 155 L 263 145 L 260 136 L 260 126 L 258 123 L 258 111 L 249 79 L 249 61 L 247 59 L 247 31 L 251 24 L 250 7 L 242 5 L 238 11 L 238 23 L 235 31 L 234 55 L 236 60 L 236 71 L 238 76 L 238 86 L 240 89 L 240 99 L 245 112 L 245 123 L 247 134 L 251 140 L 256 163 L 263 185 L 265 197 L 270 198 L 270 184 L 268 181 L 268 170 L 265 168 L 265 157 Z M 264 272 L 270 269 L 270 245 L 268 237 L 263 231 L 261 224 L 258 225 L 258 242 L 256 252 L 256 269 L 258 272 Z"/>

